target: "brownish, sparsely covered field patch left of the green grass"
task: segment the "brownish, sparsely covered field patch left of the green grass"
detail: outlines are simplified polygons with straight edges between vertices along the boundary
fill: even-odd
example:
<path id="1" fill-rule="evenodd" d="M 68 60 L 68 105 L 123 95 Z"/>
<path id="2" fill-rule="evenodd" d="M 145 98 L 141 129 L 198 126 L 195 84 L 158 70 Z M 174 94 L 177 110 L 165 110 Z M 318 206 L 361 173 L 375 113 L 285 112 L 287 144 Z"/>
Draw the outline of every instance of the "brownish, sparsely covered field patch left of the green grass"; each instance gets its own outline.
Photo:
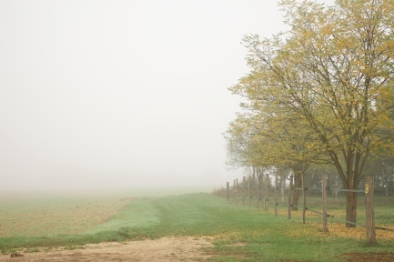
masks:
<path id="1" fill-rule="evenodd" d="M 134 199 L 79 194 L 28 198 L 0 193 L 0 237 L 79 234 L 103 224 Z"/>

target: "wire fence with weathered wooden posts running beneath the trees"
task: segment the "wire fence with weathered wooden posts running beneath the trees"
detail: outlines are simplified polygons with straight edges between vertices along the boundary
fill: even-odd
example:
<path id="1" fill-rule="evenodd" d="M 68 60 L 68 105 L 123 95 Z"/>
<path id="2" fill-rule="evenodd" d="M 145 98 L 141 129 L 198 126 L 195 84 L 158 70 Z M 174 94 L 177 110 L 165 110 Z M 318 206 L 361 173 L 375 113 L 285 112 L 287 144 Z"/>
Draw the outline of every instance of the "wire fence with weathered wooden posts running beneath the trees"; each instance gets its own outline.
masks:
<path id="1" fill-rule="evenodd" d="M 326 178 L 323 176 L 323 179 L 326 179 Z M 308 187 L 308 186 L 296 187 L 296 186 L 293 186 L 293 178 L 292 177 L 290 178 L 290 183 L 289 183 L 290 185 L 289 186 L 278 186 L 278 177 L 276 178 L 275 186 L 272 186 L 269 181 L 268 176 L 266 176 L 265 181 L 261 181 L 261 179 L 259 178 L 256 183 L 257 185 L 251 185 L 250 177 L 248 179 L 246 179 L 246 177 L 244 176 L 242 182 L 240 182 L 240 183 L 238 183 L 237 179 L 235 179 L 233 186 L 229 186 L 229 182 L 227 182 L 226 195 L 227 195 L 228 201 L 236 201 L 238 205 L 239 204 L 240 205 L 248 205 L 249 207 L 255 206 L 257 208 L 260 208 L 260 206 L 264 206 L 265 210 L 268 210 L 268 207 L 269 207 L 268 203 L 270 203 L 269 199 L 274 199 L 271 202 L 274 202 L 273 207 L 274 207 L 274 211 L 275 211 L 275 213 L 274 213 L 275 216 L 278 216 L 278 210 L 277 210 L 278 207 L 287 207 L 288 208 L 288 218 L 289 219 L 291 218 L 292 211 L 300 209 L 303 211 L 303 216 L 302 216 L 303 223 L 305 223 L 305 221 L 306 221 L 307 212 L 311 212 L 311 213 L 318 214 L 323 218 L 323 228 L 327 228 L 327 218 L 329 218 L 330 221 L 333 221 L 333 222 L 344 222 L 344 223 L 347 223 L 347 224 L 355 226 L 355 227 L 366 227 L 368 238 L 370 238 L 369 235 L 371 235 L 371 236 L 373 235 L 369 239 L 369 242 L 374 242 L 374 241 L 376 241 L 375 236 L 374 236 L 375 229 L 385 230 L 385 231 L 394 231 L 393 229 L 388 228 L 388 227 L 375 226 L 375 220 L 374 220 L 375 211 L 378 211 L 378 212 L 380 211 L 380 209 L 379 208 L 376 209 L 376 207 L 386 207 L 386 209 L 387 209 L 387 207 L 394 207 L 394 192 L 388 191 L 388 190 L 376 190 L 375 191 L 374 187 L 373 187 L 373 177 L 370 177 L 369 179 L 372 179 L 371 182 L 369 182 L 372 184 L 369 187 L 366 184 L 366 188 L 369 188 L 369 190 L 368 190 L 368 189 L 343 189 L 343 188 L 335 188 L 334 189 L 334 188 L 330 188 L 328 186 L 322 186 L 321 188 L 318 188 L 316 186 L 314 186 L 314 187 Z M 326 182 L 322 182 L 322 185 L 324 183 L 326 183 Z M 291 188 L 291 190 L 289 190 L 290 188 Z M 324 190 L 323 188 L 326 188 L 326 190 Z M 296 193 L 297 191 L 299 193 Z M 335 192 L 333 192 L 333 191 L 335 191 Z M 310 194 L 311 196 L 307 197 L 307 192 L 313 192 L 313 194 Z M 302 194 L 300 194 L 300 193 L 302 193 Z M 346 197 L 344 197 L 344 195 L 349 194 L 349 193 L 356 193 L 356 195 L 358 195 L 358 196 L 363 195 L 366 197 L 365 201 L 358 201 L 357 202 L 358 203 L 357 207 L 359 209 L 366 210 L 366 217 L 365 217 L 366 224 L 362 224 L 362 222 L 357 223 L 355 221 L 349 221 L 347 219 L 344 219 L 343 217 L 341 217 L 341 216 L 344 216 L 343 213 L 338 215 L 338 209 L 343 210 L 344 207 L 346 207 Z M 297 197 L 294 197 L 295 195 L 297 195 Z M 329 197 L 327 197 L 327 195 Z M 301 198 L 301 196 L 302 196 L 302 198 Z M 370 197 L 371 197 L 371 200 L 369 199 Z M 308 205 L 310 205 L 309 207 L 306 205 L 307 198 L 308 198 Z M 297 200 L 297 205 L 296 205 L 296 203 L 293 203 L 293 201 L 295 201 L 295 200 Z M 303 202 L 303 203 L 298 204 L 299 201 Z M 326 207 L 326 205 L 328 205 L 328 208 Z M 271 206 L 272 206 L 272 204 L 271 204 Z M 328 214 L 327 213 L 328 209 L 335 210 L 336 212 L 334 212 L 334 213 L 336 213 L 336 215 Z M 382 210 L 384 211 L 384 209 L 382 209 Z M 392 213 L 392 210 L 391 210 L 391 213 Z M 386 220 L 391 220 L 391 223 L 392 223 L 392 215 L 386 216 L 386 217 L 385 216 L 378 216 L 378 217 L 379 217 L 379 222 L 381 222 L 383 224 L 387 224 L 387 223 L 384 223 L 384 222 L 388 222 Z M 327 231 L 327 230 L 324 230 L 324 231 Z"/>

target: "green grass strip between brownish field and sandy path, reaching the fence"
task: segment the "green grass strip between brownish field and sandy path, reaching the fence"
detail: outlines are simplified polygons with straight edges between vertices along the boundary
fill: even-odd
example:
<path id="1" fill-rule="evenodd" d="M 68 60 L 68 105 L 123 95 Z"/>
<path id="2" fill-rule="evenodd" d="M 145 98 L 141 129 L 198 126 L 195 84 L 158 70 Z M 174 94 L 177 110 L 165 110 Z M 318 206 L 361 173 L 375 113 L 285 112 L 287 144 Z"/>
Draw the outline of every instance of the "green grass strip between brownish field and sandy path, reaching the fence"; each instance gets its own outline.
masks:
<path id="1" fill-rule="evenodd" d="M 315 200 L 316 204 L 313 198 L 309 199 L 310 207 L 318 208 L 318 198 Z M 334 204 L 329 207 L 342 209 Z M 392 209 L 378 208 L 377 221 L 393 226 Z M 212 259 L 216 261 L 344 261 L 340 256 L 348 252 L 394 249 L 393 238 L 379 239 L 378 245 L 371 247 L 364 239 L 320 232 L 321 218 L 308 217 L 307 221 L 303 225 L 297 216 L 291 220 L 274 217 L 272 207 L 264 211 L 236 205 L 207 193 L 148 196 L 133 199 L 106 222 L 86 227 L 79 234 L 0 237 L 0 248 L 8 253 L 22 248 L 77 248 L 102 241 L 210 236 L 214 247 L 207 247 L 206 252 L 214 255 Z"/>

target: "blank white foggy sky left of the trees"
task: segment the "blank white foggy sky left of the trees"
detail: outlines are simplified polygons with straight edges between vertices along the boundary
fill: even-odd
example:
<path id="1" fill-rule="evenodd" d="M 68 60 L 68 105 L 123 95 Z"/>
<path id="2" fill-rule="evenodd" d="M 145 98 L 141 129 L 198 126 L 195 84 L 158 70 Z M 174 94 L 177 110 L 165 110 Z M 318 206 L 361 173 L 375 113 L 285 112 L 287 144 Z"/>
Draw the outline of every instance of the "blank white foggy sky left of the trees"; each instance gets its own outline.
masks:
<path id="1" fill-rule="evenodd" d="M 328 2 L 328 1 L 326 1 Z M 221 186 L 277 1 L 0 1 L 0 188 Z"/>

